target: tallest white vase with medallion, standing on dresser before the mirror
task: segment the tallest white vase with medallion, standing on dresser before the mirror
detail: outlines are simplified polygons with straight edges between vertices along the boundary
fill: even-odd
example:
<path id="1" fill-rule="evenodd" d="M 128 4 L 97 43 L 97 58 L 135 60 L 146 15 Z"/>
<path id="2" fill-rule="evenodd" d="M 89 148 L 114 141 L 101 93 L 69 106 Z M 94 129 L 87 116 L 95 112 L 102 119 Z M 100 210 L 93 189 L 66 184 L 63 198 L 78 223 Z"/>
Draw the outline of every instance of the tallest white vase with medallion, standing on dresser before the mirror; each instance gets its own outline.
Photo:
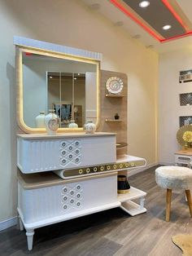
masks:
<path id="1" fill-rule="evenodd" d="M 49 135 L 55 135 L 59 128 L 59 117 L 55 114 L 55 109 L 50 109 L 45 117 L 46 131 Z"/>

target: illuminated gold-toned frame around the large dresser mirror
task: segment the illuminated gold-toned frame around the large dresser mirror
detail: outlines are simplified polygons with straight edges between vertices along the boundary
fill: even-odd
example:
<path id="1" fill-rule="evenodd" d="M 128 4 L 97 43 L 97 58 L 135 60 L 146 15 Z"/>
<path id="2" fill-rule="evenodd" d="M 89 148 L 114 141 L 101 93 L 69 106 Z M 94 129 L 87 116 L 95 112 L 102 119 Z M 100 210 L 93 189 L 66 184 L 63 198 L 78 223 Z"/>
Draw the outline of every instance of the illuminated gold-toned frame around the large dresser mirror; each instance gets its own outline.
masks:
<path id="1" fill-rule="evenodd" d="M 92 60 L 84 57 L 79 57 L 75 55 L 67 55 L 64 53 L 59 53 L 55 51 L 42 50 L 38 48 L 28 47 L 28 46 L 15 46 L 15 77 L 17 86 L 17 123 L 20 129 L 28 134 L 38 134 L 46 133 L 46 128 L 32 128 L 25 124 L 24 122 L 24 95 L 23 95 L 23 64 L 22 64 L 22 54 L 23 52 L 29 52 L 37 55 L 46 55 L 49 57 L 59 58 L 63 60 L 76 60 L 79 62 L 84 62 L 88 64 L 96 64 L 97 68 L 97 121 L 96 127 L 98 128 L 100 121 L 100 88 L 99 88 L 99 77 L 100 77 L 100 61 Z M 81 128 L 59 128 L 58 132 L 82 132 Z"/>

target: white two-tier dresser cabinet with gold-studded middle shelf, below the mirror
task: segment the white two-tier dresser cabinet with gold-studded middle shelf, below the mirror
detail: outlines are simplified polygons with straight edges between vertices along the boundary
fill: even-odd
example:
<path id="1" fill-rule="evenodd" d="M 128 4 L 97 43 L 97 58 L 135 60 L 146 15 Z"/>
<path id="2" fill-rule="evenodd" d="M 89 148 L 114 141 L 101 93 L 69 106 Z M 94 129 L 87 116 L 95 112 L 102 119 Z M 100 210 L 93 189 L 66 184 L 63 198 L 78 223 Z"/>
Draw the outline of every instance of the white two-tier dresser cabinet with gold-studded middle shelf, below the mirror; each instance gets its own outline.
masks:
<path id="1" fill-rule="evenodd" d="M 146 192 L 117 194 L 118 171 L 145 165 L 139 157 L 116 159 L 112 133 L 18 135 L 18 214 L 28 249 L 38 227 L 115 207 L 132 216 L 146 212 Z"/>

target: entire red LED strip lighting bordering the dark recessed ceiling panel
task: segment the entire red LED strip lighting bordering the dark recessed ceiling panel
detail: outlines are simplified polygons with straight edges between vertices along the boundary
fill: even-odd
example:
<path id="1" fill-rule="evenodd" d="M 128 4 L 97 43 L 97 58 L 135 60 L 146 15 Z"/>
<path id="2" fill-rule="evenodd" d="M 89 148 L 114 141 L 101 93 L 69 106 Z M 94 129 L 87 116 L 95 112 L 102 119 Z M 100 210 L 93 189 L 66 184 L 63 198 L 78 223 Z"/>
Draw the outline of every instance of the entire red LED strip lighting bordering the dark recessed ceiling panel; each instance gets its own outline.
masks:
<path id="1" fill-rule="evenodd" d="M 181 20 L 181 17 L 177 14 L 177 12 L 172 8 L 172 6 L 170 5 L 170 3 L 168 2 L 168 0 L 161 0 L 162 2 L 164 2 L 164 5 L 168 8 L 169 11 L 172 12 L 172 15 L 174 15 L 174 17 L 178 20 L 178 22 L 182 25 L 182 27 L 186 30 L 186 26 L 184 24 L 184 22 Z M 153 36 L 155 39 L 157 39 L 159 42 L 168 42 L 174 39 L 178 39 L 178 38 L 184 38 L 186 36 L 190 36 L 192 35 L 192 31 L 186 32 L 182 35 L 179 36 L 175 36 L 172 38 L 160 38 L 158 34 L 156 34 L 152 29 L 150 29 L 149 27 L 146 26 L 146 24 L 142 24 L 141 20 L 138 20 L 137 17 L 135 17 L 133 15 L 133 13 L 131 13 L 129 10 L 127 10 L 123 5 L 120 4 L 120 2 L 118 2 L 118 0 L 110 0 L 110 2 L 112 4 L 114 4 L 117 8 L 120 9 L 120 11 L 123 11 L 125 15 L 128 15 L 129 18 L 131 18 L 133 21 L 135 21 L 137 24 L 139 24 L 143 29 L 146 30 L 146 32 L 150 33 L 151 36 Z"/>

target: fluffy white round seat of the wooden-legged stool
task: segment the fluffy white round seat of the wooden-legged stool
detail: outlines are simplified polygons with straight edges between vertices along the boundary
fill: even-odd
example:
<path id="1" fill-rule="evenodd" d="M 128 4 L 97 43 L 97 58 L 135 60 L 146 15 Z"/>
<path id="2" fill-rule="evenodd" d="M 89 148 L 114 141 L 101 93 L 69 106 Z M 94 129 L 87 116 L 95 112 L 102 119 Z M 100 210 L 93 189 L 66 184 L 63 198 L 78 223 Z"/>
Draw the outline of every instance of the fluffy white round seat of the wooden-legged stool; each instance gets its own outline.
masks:
<path id="1" fill-rule="evenodd" d="M 161 166 L 155 170 L 155 180 L 161 188 L 191 189 L 192 170 L 180 166 Z"/>

